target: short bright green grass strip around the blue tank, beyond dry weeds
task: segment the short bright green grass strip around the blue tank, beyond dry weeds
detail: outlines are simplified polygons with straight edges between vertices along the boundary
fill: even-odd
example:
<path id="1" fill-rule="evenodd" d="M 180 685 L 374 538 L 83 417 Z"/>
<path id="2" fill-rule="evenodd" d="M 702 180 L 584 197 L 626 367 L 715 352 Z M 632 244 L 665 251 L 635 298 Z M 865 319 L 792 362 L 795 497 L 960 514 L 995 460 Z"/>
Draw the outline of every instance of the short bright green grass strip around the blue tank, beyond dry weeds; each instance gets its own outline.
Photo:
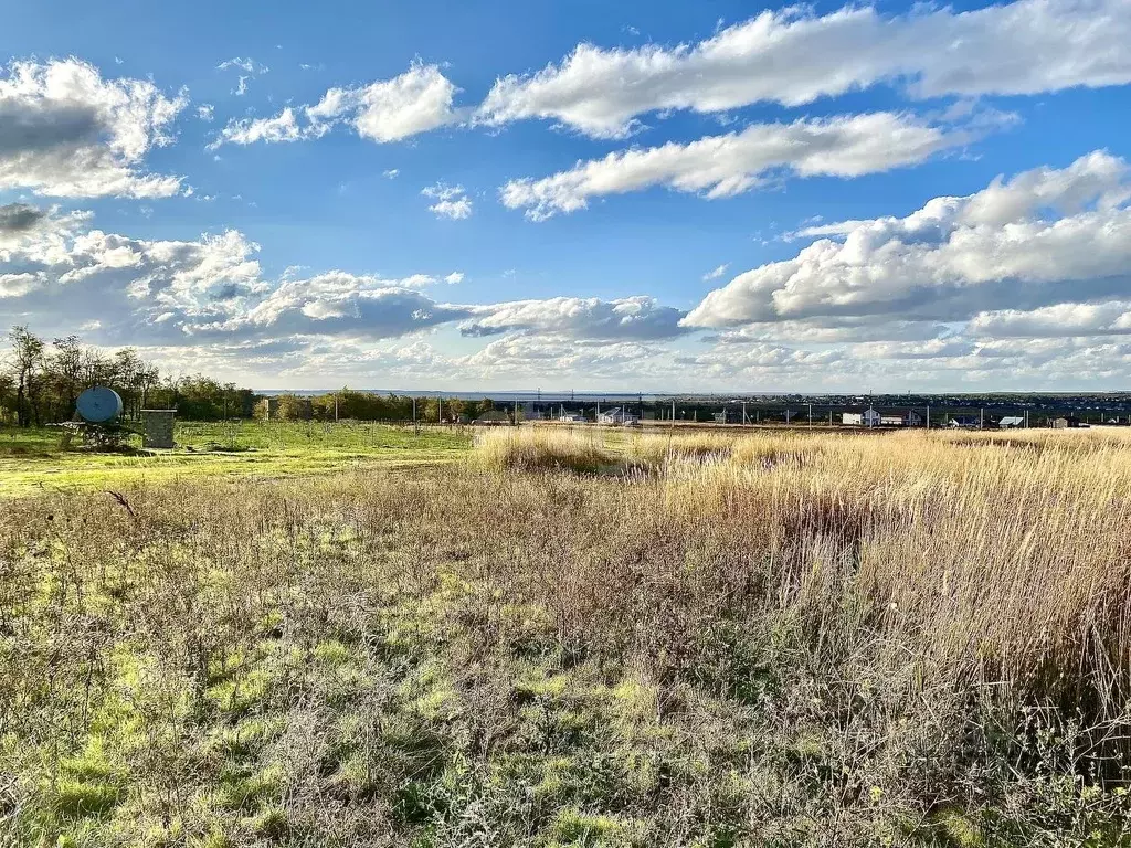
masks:
<path id="1" fill-rule="evenodd" d="M 469 445 L 455 430 L 343 422 L 178 422 L 176 448 L 95 453 L 61 448 L 50 427 L 0 429 L 0 497 L 163 483 L 188 476 L 293 477 L 448 462 Z M 140 448 L 140 440 L 131 440 Z"/>

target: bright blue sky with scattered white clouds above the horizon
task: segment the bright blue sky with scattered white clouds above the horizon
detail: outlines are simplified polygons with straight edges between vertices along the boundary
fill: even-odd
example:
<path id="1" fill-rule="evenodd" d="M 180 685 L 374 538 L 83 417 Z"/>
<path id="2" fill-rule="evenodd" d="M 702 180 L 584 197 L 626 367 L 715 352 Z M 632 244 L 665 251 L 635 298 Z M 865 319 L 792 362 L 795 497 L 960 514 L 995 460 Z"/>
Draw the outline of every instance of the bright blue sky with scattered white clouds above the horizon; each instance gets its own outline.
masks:
<path id="1" fill-rule="evenodd" d="M 1131 0 L 57 0 L 0 327 L 252 388 L 1128 388 Z"/>

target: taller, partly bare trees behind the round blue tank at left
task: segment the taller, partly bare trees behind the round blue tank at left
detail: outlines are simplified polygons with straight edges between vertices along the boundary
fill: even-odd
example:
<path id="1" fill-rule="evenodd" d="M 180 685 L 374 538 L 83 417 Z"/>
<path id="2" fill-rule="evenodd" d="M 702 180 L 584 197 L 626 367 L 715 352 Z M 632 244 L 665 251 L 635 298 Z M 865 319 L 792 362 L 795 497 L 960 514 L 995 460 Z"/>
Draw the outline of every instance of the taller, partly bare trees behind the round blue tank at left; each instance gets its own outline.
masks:
<path id="1" fill-rule="evenodd" d="M 235 383 L 202 374 L 163 375 L 133 348 L 106 353 L 77 336 L 50 341 L 15 327 L 9 349 L 0 349 L 0 423 L 32 426 L 70 421 L 75 400 L 92 386 L 109 386 L 122 397 L 124 415 L 141 409 L 176 409 L 182 418 L 219 421 L 251 417 L 257 396 Z"/>

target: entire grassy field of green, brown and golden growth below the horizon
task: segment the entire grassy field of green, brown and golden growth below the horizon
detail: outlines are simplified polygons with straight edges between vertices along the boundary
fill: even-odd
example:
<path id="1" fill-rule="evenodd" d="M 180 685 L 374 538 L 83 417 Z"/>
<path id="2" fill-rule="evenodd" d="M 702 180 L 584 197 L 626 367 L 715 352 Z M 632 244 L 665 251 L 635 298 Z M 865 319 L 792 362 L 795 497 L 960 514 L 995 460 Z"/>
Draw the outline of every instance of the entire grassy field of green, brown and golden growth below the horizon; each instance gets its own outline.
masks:
<path id="1" fill-rule="evenodd" d="M 304 426 L 0 455 L 0 845 L 1131 845 L 1122 431 Z"/>

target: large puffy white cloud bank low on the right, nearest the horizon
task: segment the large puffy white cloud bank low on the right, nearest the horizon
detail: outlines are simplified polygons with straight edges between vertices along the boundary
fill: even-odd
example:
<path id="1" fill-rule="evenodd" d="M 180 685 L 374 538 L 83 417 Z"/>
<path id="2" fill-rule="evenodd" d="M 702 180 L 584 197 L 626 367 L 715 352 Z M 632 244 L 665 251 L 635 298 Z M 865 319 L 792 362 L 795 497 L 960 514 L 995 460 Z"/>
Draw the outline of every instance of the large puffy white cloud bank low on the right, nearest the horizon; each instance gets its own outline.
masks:
<path id="1" fill-rule="evenodd" d="M 1129 199 L 1128 163 L 1096 152 L 1064 168 L 999 178 L 968 197 L 935 198 L 906 217 L 813 227 L 811 235 L 836 237 L 740 274 L 684 323 L 964 321 L 1111 300 L 1131 285 Z"/>

